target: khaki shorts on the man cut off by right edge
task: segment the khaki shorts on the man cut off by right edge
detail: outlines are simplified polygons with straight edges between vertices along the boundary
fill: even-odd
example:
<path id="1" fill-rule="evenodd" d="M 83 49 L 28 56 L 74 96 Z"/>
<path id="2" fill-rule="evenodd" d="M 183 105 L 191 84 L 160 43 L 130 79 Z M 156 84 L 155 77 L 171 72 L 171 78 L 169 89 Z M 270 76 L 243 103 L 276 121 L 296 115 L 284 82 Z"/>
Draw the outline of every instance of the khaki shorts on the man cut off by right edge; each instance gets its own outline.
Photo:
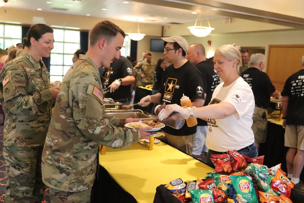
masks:
<path id="1" fill-rule="evenodd" d="M 293 147 L 304 150 L 304 126 L 286 125 L 285 129 L 285 147 Z"/>

